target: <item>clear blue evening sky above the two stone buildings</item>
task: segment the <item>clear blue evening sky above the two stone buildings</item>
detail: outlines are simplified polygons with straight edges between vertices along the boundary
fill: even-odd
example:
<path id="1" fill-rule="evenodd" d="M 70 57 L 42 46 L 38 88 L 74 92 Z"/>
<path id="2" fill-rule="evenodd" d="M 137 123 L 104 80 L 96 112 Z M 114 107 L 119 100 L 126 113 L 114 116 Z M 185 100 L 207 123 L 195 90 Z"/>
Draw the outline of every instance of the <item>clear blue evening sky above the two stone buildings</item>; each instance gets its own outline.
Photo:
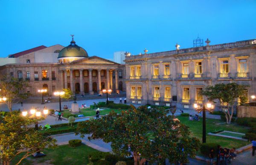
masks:
<path id="1" fill-rule="evenodd" d="M 77 45 L 89 56 L 139 54 L 256 38 L 256 0 L 0 0 L 0 57 Z"/>

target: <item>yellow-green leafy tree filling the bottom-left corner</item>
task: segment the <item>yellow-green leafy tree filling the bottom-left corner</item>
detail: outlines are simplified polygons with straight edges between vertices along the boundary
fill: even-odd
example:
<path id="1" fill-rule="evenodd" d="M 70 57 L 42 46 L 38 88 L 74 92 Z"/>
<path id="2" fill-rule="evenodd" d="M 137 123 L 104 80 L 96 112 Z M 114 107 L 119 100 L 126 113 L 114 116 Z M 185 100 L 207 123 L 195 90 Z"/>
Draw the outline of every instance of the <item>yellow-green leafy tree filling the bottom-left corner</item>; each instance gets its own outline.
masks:
<path id="1" fill-rule="evenodd" d="M 0 146 L 3 165 L 9 165 L 13 158 L 23 154 L 17 164 L 26 157 L 45 147 L 54 147 L 55 139 L 44 136 L 35 128 L 35 119 L 22 117 L 19 113 L 10 113 L 0 119 Z"/>

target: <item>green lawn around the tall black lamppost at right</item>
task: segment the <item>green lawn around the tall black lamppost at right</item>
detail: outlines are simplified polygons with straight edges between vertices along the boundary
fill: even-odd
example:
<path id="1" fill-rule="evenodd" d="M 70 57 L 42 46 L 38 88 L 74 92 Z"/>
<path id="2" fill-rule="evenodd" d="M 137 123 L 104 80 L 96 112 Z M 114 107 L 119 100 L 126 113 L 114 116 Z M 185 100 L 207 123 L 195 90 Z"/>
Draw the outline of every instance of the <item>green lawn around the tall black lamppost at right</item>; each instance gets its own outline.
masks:
<path id="1" fill-rule="evenodd" d="M 202 119 L 200 121 L 189 121 L 188 117 L 177 117 L 180 122 L 185 124 L 186 126 L 189 126 L 189 129 L 191 131 L 191 136 L 197 137 L 202 140 Z M 230 124 L 227 125 L 222 120 L 218 119 L 206 119 L 206 133 L 208 134 L 211 131 L 214 130 L 224 130 L 224 131 L 233 131 L 233 132 L 239 132 L 239 133 L 247 133 L 248 129 L 244 128 L 243 126 Z M 248 145 L 249 142 L 244 142 L 241 140 L 236 139 L 230 139 L 230 138 L 224 138 L 224 137 L 215 137 L 215 136 L 206 136 L 207 142 L 215 142 L 221 145 L 222 147 L 227 148 L 240 148 L 244 145 Z"/>

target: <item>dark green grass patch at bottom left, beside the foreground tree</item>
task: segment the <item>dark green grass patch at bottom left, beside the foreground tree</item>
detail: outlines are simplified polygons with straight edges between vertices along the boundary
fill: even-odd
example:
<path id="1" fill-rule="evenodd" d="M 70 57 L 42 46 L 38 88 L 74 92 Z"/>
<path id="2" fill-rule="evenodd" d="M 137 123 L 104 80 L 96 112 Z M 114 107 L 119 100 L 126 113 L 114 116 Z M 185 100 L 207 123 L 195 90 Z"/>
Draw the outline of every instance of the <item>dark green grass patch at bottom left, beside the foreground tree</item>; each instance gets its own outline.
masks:
<path id="1" fill-rule="evenodd" d="M 54 165 L 86 165 L 88 161 L 88 154 L 97 151 L 87 145 L 78 147 L 70 147 L 69 145 L 60 145 L 54 149 L 45 149 L 43 152 L 47 156 L 34 158 L 29 156 L 21 162 L 21 165 L 35 165 L 35 164 L 54 164 Z M 11 165 L 15 165 L 21 156 L 17 156 Z"/>

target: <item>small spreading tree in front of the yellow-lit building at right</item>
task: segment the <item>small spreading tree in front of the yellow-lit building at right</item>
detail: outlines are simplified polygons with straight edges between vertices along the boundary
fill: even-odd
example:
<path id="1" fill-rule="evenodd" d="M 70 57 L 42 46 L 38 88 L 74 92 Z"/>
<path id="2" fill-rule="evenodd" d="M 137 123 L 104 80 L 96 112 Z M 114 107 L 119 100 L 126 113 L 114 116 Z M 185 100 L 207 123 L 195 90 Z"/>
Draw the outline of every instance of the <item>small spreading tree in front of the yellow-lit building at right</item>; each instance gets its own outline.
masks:
<path id="1" fill-rule="evenodd" d="M 247 85 L 238 85 L 236 83 L 221 83 L 214 86 L 207 86 L 202 91 L 202 94 L 207 96 L 209 101 L 214 102 L 214 100 L 218 100 L 220 102 L 227 124 L 230 124 L 236 100 L 239 98 L 241 105 L 247 102 L 247 97 L 245 97 L 246 87 Z"/>

